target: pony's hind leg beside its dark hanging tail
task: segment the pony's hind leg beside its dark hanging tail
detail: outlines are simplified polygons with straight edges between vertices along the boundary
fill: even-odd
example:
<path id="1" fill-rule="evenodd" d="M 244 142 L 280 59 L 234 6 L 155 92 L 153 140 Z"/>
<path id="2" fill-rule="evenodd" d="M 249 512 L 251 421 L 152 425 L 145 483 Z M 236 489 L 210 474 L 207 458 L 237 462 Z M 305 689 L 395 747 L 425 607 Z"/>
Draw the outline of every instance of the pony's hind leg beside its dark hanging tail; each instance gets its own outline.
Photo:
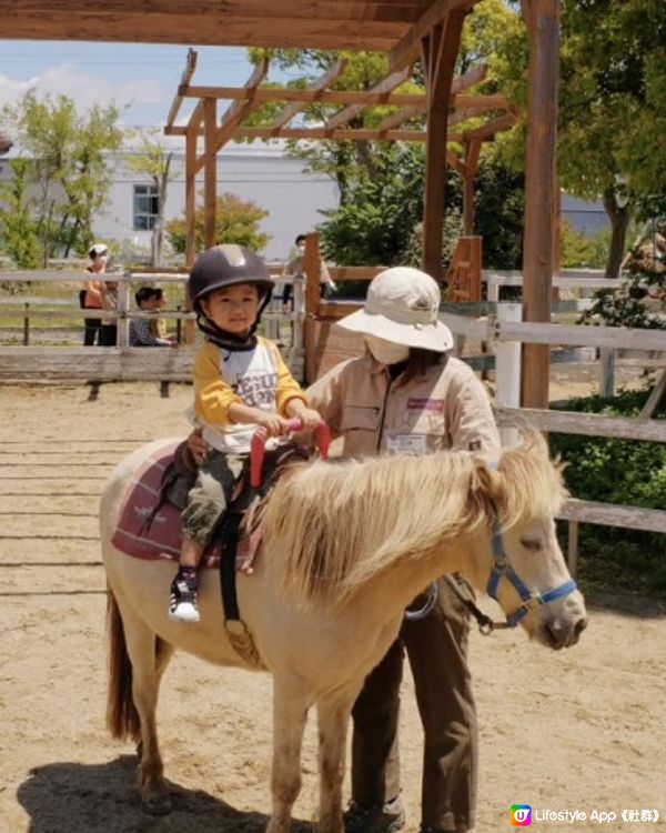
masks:
<path id="1" fill-rule="evenodd" d="M 141 723 L 138 782 L 141 805 L 148 813 L 171 812 L 169 787 L 158 743 L 155 710 L 160 680 L 173 654 L 171 645 L 131 613 L 123 613 L 128 654 L 132 663 L 132 700 Z"/>

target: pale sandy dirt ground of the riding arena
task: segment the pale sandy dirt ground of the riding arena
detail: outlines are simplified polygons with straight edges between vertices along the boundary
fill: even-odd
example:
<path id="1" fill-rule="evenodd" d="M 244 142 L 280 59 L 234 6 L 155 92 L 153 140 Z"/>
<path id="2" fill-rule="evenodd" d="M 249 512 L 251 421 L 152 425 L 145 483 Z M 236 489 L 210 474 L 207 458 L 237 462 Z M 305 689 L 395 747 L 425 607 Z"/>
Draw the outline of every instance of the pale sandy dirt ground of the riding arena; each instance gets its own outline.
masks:
<path id="1" fill-rule="evenodd" d="M 0 833 L 261 833 L 270 809 L 271 680 L 181 655 L 160 707 L 174 812 L 140 813 L 129 744 L 104 730 L 104 576 L 97 505 L 138 444 L 186 431 L 191 389 L 0 385 Z M 169 568 L 165 568 L 169 569 Z M 474 634 L 481 721 L 477 833 L 509 830 L 511 804 L 583 811 L 553 833 L 666 823 L 666 609 L 588 600 L 581 644 L 548 653 L 522 632 Z M 490 604 L 485 604 L 490 610 Z M 421 729 L 404 684 L 406 831 L 418 827 Z M 315 806 L 309 725 L 297 833 Z M 346 791 L 349 794 L 349 790 Z M 620 821 L 623 810 L 662 820 Z M 599 823 L 591 814 L 617 813 Z"/>

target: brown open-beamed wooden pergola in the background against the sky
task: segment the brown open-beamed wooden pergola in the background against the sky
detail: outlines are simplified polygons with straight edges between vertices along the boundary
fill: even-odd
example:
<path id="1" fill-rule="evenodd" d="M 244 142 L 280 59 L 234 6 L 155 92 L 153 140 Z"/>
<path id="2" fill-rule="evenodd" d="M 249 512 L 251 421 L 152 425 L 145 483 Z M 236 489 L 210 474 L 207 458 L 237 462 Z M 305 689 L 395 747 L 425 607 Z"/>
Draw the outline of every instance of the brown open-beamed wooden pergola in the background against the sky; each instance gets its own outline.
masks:
<path id="1" fill-rule="evenodd" d="M 427 96 L 424 93 L 394 92 L 405 83 L 412 74 L 412 68 L 405 67 L 379 81 L 371 90 L 344 91 L 330 89 L 331 84 L 343 73 L 344 60 L 337 61 L 327 72 L 316 79 L 305 89 L 278 89 L 261 87 L 265 80 L 268 61 L 256 67 L 244 87 L 200 87 L 192 83 L 196 68 L 196 52 L 190 50 L 183 77 L 169 111 L 164 133 L 167 136 L 182 136 L 185 138 L 185 225 L 186 247 L 185 262 L 191 265 L 195 257 L 194 245 L 194 212 L 195 212 L 195 178 L 204 170 L 204 240 L 205 245 L 215 242 L 215 210 L 216 210 L 216 165 L 218 153 L 224 144 L 232 140 L 242 139 L 291 139 L 305 141 L 342 140 L 342 141 L 404 141 L 425 142 L 427 131 L 421 128 L 405 127 L 415 117 L 427 110 Z M 451 165 L 463 179 L 464 191 L 464 234 L 473 234 L 474 228 L 474 179 L 478 168 L 478 158 L 483 142 L 491 141 L 495 136 L 509 130 L 518 117 L 505 96 L 470 96 L 465 91 L 484 80 L 487 67 L 480 64 L 464 76 L 454 78 L 448 93 L 447 127 L 461 126 L 474 119 L 474 126 L 465 132 L 450 132 L 448 142 L 463 148 L 462 158 L 451 148 L 446 149 L 446 164 Z M 186 126 L 176 127 L 174 121 L 184 99 L 199 99 Z M 218 121 L 218 102 L 221 99 L 231 100 L 220 121 Z M 284 102 L 283 109 L 266 127 L 246 127 L 243 122 L 250 114 L 265 102 Z M 291 127 L 291 122 L 309 104 L 330 103 L 340 106 L 321 127 Z M 400 108 L 386 116 L 375 128 L 351 127 L 350 122 L 365 109 L 376 104 L 387 104 Z M 480 118 L 492 113 L 493 118 L 478 124 Z M 208 121 L 206 121 L 208 119 Z M 460 128 L 458 128 L 460 131 Z M 203 150 L 200 154 L 200 139 L 203 138 Z M 424 225 L 427 229 L 437 227 L 437 217 L 430 217 L 426 205 Z M 427 231 L 426 231 L 427 234 Z M 431 274 L 442 278 L 441 263 L 430 263 L 426 267 Z"/>

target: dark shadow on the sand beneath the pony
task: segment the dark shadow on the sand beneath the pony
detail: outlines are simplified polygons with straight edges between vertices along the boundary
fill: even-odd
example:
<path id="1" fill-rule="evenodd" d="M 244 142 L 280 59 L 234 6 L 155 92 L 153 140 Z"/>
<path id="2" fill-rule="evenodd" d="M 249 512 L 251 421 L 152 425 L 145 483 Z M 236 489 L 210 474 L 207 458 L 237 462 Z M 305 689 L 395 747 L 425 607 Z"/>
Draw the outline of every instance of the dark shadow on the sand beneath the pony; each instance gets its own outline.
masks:
<path id="1" fill-rule="evenodd" d="M 29 833 L 263 833 L 268 816 L 245 813 L 201 790 L 170 782 L 173 811 L 141 811 L 134 790 L 137 759 L 105 764 L 52 763 L 38 766 L 18 790 L 30 816 Z M 268 789 L 268 785 L 266 785 Z M 294 822 L 293 833 L 310 833 Z"/>

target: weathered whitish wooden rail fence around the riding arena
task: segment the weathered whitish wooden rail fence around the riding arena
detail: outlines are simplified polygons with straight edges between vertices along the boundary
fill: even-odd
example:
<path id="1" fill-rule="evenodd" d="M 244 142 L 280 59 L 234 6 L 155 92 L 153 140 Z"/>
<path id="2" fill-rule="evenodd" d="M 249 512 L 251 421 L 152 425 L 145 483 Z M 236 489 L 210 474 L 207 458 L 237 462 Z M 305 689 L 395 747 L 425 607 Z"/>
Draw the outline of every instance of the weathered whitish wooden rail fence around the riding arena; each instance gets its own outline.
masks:
<path id="1" fill-rule="evenodd" d="M 371 280 L 379 269 L 334 269 L 332 277 L 336 282 Z M 39 281 L 75 281 L 81 284 L 80 272 L 40 272 L 39 278 L 29 273 L 32 280 Z M 26 281 L 27 273 L 4 272 L 2 280 Z M 32 348 L 0 347 L 0 379 L 43 378 L 43 379 L 87 379 L 87 380 L 169 380 L 183 381 L 191 378 L 193 350 L 183 345 L 179 349 L 145 349 L 128 345 L 129 321 L 132 318 L 150 318 L 150 313 L 130 311 L 130 288 L 134 283 L 183 282 L 184 274 L 131 273 L 105 275 L 107 280 L 119 281 L 118 347 L 115 348 Z M 484 273 L 488 292 L 498 298 L 501 285 L 519 285 L 521 277 L 515 273 Z M 588 272 L 567 274 L 556 279 L 561 287 L 584 287 L 596 289 L 608 287 L 608 281 L 598 273 L 592 277 Z M 601 281 L 601 283 L 599 283 Z M 597 285 L 598 284 L 598 285 Z M 612 285 L 617 287 L 617 282 Z M 495 291 L 497 289 L 497 292 Z M 316 270 L 309 272 L 307 282 L 294 282 L 294 311 L 284 312 L 280 300 L 264 313 L 269 334 L 280 334 L 280 322 L 289 327 L 292 339 L 286 348 L 292 368 L 303 363 L 303 344 L 307 348 L 307 361 L 316 355 L 317 334 L 315 327 L 322 322 L 332 323 L 361 302 L 340 303 L 322 300 L 319 294 Z M 4 299 L 7 301 L 7 299 Z M 19 301 L 21 303 L 21 301 Z M 579 309 L 585 301 L 554 304 L 554 309 Z M 568 304 L 568 305 L 567 305 Z M 29 320 L 39 314 L 37 307 L 23 311 Z M 596 436 L 615 436 L 626 440 L 648 440 L 666 442 L 666 421 L 654 420 L 652 414 L 659 399 L 666 394 L 666 332 L 660 330 L 632 330 L 626 328 L 581 327 L 566 323 L 525 323 L 521 321 L 521 305 L 515 303 L 491 302 L 483 307 L 486 314 L 478 315 L 478 305 L 448 305 L 442 312 L 442 320 L 451 328 L 458 344 L 465 338 L 476 339 L 490 345 L 495 362 L 496 402 L 495 413 L 503 433 L 503 440 L 515 442 L 519 428 L 533 425 L 542 431 L 587 434 Z M 16 313 L 0 313 L 7 318 Z M 97 311 L 79 310 L 74 307 L 68 311 L 51 311 L 49 317 L 58 319 L 99 318 Z M 475 317 L 473 317 L 475 315 Z M 192 321 L 192 313 L 184 311 L 160 312 L 160 318 L 176 321 Z M 275 330 L 278 328 L 278 330 Z M 303 330 L 305 338 L 303 339 Z M 551 410 L 523 409 L 519 407 L 521 345 L 539 343 L 551 345 L 591 347 L 606 351 L 610 355 L 617 350 L 643 352 L 645 364 L 660 369 L 657 384 L 644 412 L 638 419 L 609 418 L 599 414 L 582 414 Z M 640 359 L 635 359 L 640 362 Z M 302 373 L 300 374 L 302 378 Z M 310 375 L 310 379 L 313 377 Z M 635 506 L 617 506 L 589 501 L 569 501 L 563 510 L 562 518 L 569 522 L 569 566 L 576 570 L 578 523 L 599 523 L 604 525 L 625 526 L 636 530 L 666 533 L 666 511 L 646 510 Z"/>

